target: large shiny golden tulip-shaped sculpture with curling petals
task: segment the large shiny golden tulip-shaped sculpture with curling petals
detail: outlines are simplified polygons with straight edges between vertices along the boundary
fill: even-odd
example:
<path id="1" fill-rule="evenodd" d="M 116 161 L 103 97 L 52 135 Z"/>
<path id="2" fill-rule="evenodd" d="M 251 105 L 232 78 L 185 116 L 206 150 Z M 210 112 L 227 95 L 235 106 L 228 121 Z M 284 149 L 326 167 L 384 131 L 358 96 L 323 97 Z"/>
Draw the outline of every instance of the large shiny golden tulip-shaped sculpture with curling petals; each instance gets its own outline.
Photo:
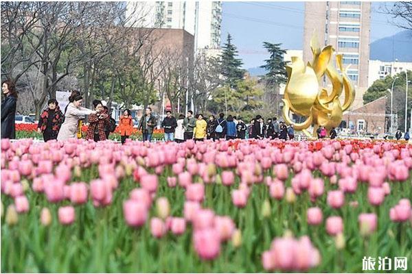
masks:
<path id="1" fill-rule="evenodd" d="M 310 40 L 313 60 L 305 66 L 301 58 L 293 57 L 292 64 L 286 66 L 288 82 L 286 83 L 284 108 L 282 114 L 288 125 L 294 125 L 295 130 L 303 131 L 310 136 L 308 127 L 313 125 L 312 136 L 316 136 L 317 128 L 324 126 L 327 132 L 332 127 L 338 127 L 342 121 L 342 114 L 352 105 L 355 99 L 355 89 L 346 75 L 347 68 L 343 68 L 343 55 L 336 54 L 336 65 L 342 75 L 332 66 L 334 48 L 332 46 L 320 49 L 316 36 Z M 323 75 L 332 82 L 332 90 L 321 86 Z M 345 89 L 345 100 L 343 105 L 339 97 Z M 306 116 L 303 123 L 294 123 L 289 112 L 292 111 L 300 116 Z"/>

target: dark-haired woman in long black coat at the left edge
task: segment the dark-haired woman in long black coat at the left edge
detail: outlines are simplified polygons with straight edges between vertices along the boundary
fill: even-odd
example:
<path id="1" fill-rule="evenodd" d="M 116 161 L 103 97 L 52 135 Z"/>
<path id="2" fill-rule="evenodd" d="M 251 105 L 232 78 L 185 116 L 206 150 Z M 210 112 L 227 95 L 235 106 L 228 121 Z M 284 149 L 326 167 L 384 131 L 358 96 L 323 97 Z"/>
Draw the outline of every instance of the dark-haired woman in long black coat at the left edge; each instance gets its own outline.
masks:
<path id="1" fill-rule="evenodd" d="M 1 84 L 5 99 L 1 102 L 1 138 L 16 138 L 17 92 L 14 83 L 6 80 Z"/>

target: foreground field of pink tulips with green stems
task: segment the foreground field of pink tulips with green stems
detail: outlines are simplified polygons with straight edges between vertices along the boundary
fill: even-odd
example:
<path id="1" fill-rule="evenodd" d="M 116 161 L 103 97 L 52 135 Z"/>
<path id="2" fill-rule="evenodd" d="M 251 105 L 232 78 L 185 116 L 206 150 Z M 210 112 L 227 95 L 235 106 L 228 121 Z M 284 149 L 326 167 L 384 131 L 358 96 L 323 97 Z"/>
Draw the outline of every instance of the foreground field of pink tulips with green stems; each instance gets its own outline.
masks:
<path id="1" fill-rule="evenodd" d="M 1 272 L 411 273 L 411 198 L 406 142 L 2 139 Z"/>

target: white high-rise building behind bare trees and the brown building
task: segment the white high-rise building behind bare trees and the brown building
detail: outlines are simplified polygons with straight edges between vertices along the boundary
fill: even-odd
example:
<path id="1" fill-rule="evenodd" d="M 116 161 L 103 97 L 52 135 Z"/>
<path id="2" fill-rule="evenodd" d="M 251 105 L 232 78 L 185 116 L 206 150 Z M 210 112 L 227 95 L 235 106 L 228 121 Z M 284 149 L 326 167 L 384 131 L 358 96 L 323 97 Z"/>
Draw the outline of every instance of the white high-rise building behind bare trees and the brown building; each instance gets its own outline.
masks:
<path id="1" fill-rule="evenodd" d="M 126 17 L 130 15 L 143 19 L 138 27 L 185 29 L 194 35 L 196 50 L 220 47 L 220 1 L 128 1 Z"/>

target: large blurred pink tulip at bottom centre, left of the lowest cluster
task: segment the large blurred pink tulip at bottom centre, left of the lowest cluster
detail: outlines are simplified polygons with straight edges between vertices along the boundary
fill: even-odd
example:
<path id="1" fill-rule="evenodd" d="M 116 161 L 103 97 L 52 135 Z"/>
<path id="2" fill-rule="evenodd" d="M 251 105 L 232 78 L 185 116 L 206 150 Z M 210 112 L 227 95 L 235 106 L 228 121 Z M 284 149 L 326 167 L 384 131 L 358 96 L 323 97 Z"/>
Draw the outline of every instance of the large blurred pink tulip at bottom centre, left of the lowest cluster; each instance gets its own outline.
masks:
<path id="1" fill-rule="evenodd" d="M 214 228 L 196 230 L 193 242 L 196 253 L 203 260 L 213 260 L 220 253 L 220 236 Z"/>

